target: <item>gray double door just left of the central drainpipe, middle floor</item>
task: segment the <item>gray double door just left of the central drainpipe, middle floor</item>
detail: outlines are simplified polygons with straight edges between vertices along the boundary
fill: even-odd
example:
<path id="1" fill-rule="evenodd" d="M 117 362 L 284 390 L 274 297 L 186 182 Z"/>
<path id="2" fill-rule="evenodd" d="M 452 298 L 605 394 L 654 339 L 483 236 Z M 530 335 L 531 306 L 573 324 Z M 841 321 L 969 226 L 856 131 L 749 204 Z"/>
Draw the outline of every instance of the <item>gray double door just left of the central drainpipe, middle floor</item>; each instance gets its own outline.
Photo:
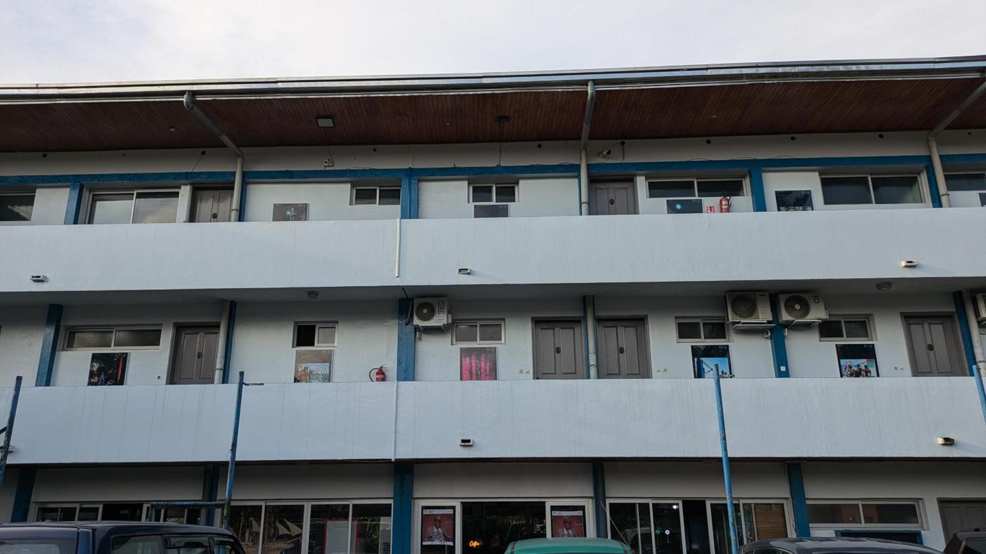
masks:
<path id="1" fill-rule="evenodd" d="M 534 379 L 585 379 L 582 320 L 534 321 Z"/>

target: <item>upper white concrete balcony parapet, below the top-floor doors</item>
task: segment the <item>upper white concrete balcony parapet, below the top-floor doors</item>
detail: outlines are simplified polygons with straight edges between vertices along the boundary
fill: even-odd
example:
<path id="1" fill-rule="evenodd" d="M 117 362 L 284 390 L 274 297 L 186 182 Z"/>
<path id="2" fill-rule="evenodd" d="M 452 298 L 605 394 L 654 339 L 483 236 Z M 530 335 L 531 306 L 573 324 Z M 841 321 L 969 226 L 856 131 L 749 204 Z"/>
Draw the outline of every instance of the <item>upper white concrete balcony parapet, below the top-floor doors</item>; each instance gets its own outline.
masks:
<path id="1" fill-rule="evenodd" d="M 4 227 L 0 292 L 969 278 L 984 236 L 978 208 Z"/>

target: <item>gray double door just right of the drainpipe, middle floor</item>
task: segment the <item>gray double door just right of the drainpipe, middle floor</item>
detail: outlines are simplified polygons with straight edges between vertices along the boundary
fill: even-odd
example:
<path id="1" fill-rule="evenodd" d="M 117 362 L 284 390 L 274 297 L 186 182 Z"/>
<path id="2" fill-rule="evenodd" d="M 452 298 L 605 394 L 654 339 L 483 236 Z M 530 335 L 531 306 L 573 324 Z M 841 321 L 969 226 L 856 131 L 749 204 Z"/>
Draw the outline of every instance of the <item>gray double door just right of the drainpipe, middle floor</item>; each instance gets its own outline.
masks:
<path id="1" fill-rule="evenodd" d="M 651 364 L 643 319 L 599 319 L 599 379 L 647 379 Z"/>

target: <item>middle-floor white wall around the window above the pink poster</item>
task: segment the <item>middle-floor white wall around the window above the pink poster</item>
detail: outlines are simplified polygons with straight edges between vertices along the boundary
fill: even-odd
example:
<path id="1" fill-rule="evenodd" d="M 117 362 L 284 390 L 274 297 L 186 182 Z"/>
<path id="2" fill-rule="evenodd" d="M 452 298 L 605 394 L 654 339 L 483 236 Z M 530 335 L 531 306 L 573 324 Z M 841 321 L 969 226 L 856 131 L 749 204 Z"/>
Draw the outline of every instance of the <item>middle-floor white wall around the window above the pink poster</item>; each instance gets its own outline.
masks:
<path id="1" fill-rule="evenodd" d="M 504 344 L 457 345 L 452 343 L 452 328 L 424 331 L 415 346 L 415 381 L 458 381 L 459 349 L 476 346 L 497 349 L 497 379 L 533 379 L 532 318 L 582 319 L 582 300 L 461 301 L 452 304 L 451 311 L 454 319 L 460 321 L 502 319 Z"/>

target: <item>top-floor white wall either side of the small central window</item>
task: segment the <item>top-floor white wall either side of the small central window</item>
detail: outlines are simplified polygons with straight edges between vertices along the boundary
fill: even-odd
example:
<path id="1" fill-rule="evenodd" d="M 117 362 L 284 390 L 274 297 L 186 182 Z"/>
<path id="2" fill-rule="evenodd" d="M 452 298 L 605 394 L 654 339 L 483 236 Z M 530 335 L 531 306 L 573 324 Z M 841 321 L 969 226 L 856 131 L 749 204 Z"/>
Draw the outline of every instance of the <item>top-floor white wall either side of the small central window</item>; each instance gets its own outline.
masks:
<path id="1" fill-rule="evenodd" d="M 507 204 L 509 217 L 579 215 L 577 178 L 522 178 L 514 182 L 518 185 L 517 202 Z M 422 178 L 418 186 L 418 217 L 421 219 L 472 218 L 474 205 L 469 202 L 468 180 Z"/>

